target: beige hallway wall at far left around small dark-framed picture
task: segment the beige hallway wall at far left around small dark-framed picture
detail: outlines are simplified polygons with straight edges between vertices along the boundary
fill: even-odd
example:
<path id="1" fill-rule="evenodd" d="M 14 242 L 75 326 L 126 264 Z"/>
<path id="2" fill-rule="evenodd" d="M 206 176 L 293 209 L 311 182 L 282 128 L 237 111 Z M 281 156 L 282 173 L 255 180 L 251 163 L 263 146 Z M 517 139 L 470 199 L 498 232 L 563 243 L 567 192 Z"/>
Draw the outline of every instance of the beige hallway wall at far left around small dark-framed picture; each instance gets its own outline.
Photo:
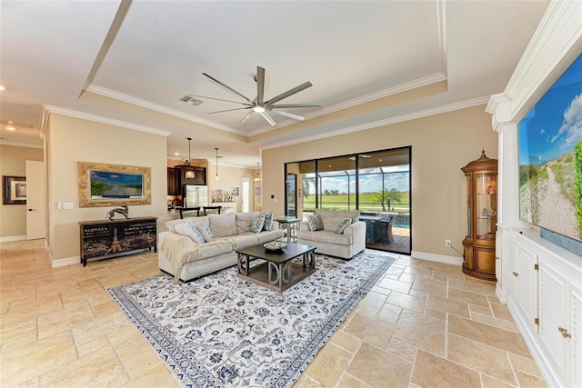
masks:
<path id="1" fill-rule="evenodd" d="M 25 176 L 26 161 L 42 162 L 42 148 L 0 145 L 0 174 Z M 0 241 L 22 239 L 26 235 L 26 205 L 0 204 Z"/>

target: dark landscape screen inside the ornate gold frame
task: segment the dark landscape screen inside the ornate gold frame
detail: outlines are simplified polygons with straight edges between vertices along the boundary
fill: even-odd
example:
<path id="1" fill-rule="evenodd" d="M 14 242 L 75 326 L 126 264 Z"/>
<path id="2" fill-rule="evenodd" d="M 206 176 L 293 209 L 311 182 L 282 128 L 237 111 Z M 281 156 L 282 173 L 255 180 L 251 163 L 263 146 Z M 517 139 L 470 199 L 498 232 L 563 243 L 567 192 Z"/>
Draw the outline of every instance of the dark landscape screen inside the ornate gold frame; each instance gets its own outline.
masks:
<path id="1" fill-rule="evenodd" d="M 91 171 L 91 198 L 141 198 L 144 175 Z"/>

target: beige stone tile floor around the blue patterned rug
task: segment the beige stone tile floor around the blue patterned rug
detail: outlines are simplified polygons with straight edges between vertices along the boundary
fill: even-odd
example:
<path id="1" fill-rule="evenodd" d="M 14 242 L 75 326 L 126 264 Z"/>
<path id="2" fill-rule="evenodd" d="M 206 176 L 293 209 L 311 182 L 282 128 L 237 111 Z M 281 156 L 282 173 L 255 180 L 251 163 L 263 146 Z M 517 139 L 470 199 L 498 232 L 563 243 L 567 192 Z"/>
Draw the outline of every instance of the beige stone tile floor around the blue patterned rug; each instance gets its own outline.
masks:
<path id="1" fill-rule="evenodd" d="M 51 268 L 44 244 L 0 244 L 0 386 L 179 386 L 106 292 L 157 255 Z M 295 387 L 546 386 L 493 284 L 397 257 Z"/>

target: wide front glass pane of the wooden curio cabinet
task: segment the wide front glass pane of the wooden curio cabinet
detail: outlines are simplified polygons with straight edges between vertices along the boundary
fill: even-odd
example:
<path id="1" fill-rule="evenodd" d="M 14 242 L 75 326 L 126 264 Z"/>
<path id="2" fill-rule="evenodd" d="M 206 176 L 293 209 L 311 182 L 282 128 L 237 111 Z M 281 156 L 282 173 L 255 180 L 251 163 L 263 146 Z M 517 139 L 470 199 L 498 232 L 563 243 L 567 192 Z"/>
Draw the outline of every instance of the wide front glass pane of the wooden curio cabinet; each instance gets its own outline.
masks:
<path id="1" fill-rule="evenodd" d="M 492 174 L 476 174 L 476 238 L 479 240 L 495 240 L 497 224 L 496 176 Z"/>

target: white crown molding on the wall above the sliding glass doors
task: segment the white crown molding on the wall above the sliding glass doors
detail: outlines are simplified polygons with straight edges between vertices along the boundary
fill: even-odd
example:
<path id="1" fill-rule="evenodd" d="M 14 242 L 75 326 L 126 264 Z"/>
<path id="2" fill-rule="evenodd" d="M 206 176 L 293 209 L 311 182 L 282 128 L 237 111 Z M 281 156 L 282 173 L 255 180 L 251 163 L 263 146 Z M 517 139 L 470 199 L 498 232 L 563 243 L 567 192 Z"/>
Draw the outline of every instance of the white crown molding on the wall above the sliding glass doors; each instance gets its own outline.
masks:
<path id="1" fill-rule="evenodd" d="M 286 145 L 301 144 L 306 142 L 313 142 L 315 140 L 326 139 L 328 137 L 338 136 L 341 134 L 351 134 L 353 132 L 365 131 L 366 129 L 376 128 L 378 126 L 404 123 L 406 121 L 415 120 L 418 118 L 423 118 L 435 114 L 445 114 L 447 112 L 457 111 L 459 109 L 466 109 L 477 105 L 487 104 L 489 100 L 488 96 L 477 97 L 471 100 L 462 101 L 460 103 L 446 104 L 437 106 L 434 108 L 425 109 L 424 111 L 417 111 L 411 114 L 401 114 L 399 116 L 390 117 L 385 120 L 378 120 L 376 122 L 347 126 L 346 128 L 338 129 L 336 131 L 326 132 L 325 134 L 315 134 L 312 136 L 297 137 L 293 140 L 288 140 L 286 142 L 279 142 L 274 144 L 267 144 L 259 147 L 260 150 L 268 150 L 278 147 L 283 147 Z"/>

